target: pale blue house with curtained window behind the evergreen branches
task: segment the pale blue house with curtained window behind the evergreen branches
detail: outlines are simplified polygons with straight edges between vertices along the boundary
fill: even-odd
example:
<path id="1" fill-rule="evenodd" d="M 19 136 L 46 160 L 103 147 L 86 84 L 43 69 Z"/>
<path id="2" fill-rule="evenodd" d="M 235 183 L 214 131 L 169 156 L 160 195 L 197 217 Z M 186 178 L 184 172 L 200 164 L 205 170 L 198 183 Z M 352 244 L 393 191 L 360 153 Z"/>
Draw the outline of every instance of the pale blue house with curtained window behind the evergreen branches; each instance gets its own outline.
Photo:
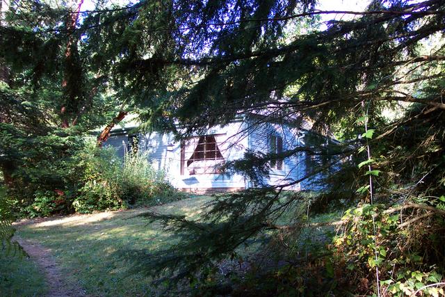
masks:
<path id="1" fill-rule="evenodd" d="M 259 186 L 243 175 L 225 175 L 220 165 L 242 159 L 245 152 L 276 152 L 305 144 L 308 131 L 289 125 L 266 122 L 260 115 L 248 115 L 215 126 L 206 133 L 178 142 L 172 134 L 132 133 L 135 125 L 113 129 L 104 145 L 116 147 L 124 156 L 131 150 L 147 152 L 157 170 L 164 170 L 175 188 L 193 193 L 238 191 Z M 138 144 L 136 146 L 136 143 Z M 312 157 L 304 152 L 270 161 L 270 174 L 261 184 L 288 184 L 305 176 Z M 288 190 L 299 191 L 309 184 L 296 183 Z"/>

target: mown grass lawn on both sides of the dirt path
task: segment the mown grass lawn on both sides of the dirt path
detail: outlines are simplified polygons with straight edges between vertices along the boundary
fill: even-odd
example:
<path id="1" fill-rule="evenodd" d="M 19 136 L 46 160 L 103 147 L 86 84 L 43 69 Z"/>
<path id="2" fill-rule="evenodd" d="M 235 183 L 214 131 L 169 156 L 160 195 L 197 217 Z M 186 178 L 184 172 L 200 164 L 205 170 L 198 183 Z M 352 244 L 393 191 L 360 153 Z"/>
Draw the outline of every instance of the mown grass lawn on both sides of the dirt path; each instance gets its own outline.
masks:
<path id="1" fill-rule="evenodd" d="M 209 199 L 198 196 L 154 209 L 194 217 Z M 149 224 L 144 218 L 135 217 L 144 211 L 147 209 L 31 220 L 16 225 L 16 234 L 50 248 L 67 281 L 78 284 L 88 296 L 150 296 L 156 294 L 156 289 L 150 286 L 150 280 L 145 276 L 127 273 L 131 259 L 122 257 L 120 251 L 150 252 L 174 242 L 174 239 L 157 223 Z M 15 279 L 13 283 L 17 288 L 21 284 L 29 290 L 7 291 L 1 284 L 0 296 L 42 296 L 44 279 L 35 264 L 27 259 L 12 259 L 9 266 L 3 268 L 3 259 L 1 261 L 0 275 Z M 4 274 L 8 270 L 13 272 Z"/>

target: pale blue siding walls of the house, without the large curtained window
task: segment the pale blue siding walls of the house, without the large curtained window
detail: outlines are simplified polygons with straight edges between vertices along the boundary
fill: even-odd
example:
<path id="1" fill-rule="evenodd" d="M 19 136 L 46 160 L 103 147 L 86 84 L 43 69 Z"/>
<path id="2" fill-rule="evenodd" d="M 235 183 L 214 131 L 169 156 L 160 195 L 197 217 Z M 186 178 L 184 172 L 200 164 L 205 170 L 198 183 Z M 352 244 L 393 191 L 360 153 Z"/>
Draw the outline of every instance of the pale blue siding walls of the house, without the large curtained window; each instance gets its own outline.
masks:
<path id="1" fill-rule="evenodd" d="M 311 134 L 288 125 L 273 123 L 258 124 L 257 120 L 232 122 L 224 127 L 213 127 L 207 131 L 208 135 L 218 134 L 218 147 L 225 161 L 242 159 L 246 150 L 267 153 L 270 150 L 270 135 L 281 136 L 283 151 L 292 149 L 298 145 L 312 143 Z M 124 156 L 131 135 L 128 131 L 119 131 L 112 134 L 104 145 L 116 147 L 118 154 Z M 209 193 L 223 191 L 238 191 L 243 188 L 251 188 L 251 181 L 241 175 L 227 177 L 223 174 L 189 174 L 184 170 L 181 175 L 181 145 L 175 141 L 172 134 L 139 134 L 139 147 L 141 151 L 148 152 L 148 157 L 156 170 L 163 170 L 169 182 L 181 191 L 193 193 Z M 288 184 L 307 175 L 311 168 L 312 156 L 304 152 L 283 160 L 282 170 L 270 170 L 269 177 L 264 177 L 263 184 L 280 185 Z M 316 161 L 316 160 L 315 160 Z M 292 191 L 311 189 L 312 181 L 307 180 L 287 187 Z"/>

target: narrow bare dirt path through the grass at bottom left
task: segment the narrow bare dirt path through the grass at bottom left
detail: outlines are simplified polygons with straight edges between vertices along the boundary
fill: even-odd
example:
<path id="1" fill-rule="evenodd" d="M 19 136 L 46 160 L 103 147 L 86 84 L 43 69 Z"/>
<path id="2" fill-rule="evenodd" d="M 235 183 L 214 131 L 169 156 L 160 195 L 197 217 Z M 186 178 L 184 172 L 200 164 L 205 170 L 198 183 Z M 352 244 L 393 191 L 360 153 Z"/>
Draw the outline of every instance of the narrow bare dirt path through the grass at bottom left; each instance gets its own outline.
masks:
<path id="1" fill-rule="evenodd" d="M 14 236 L 14 239 L 44 271 L 49 286 L 47 297 L 86 296 L 83 289 L 67 282 L 61 268 L 51 255 L 50 248 L 45 248 L 39 243 L 22 239 L 19 236 Z"/>

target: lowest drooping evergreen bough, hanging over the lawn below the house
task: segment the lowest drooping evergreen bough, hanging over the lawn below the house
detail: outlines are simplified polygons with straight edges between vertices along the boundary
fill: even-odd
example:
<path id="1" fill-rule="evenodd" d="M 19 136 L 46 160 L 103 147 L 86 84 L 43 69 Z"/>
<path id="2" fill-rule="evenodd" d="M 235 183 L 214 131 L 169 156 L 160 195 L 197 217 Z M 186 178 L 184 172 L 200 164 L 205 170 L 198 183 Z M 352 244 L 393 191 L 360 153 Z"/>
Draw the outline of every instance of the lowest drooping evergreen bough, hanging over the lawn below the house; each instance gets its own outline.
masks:
<path id="1" fill-rule="evenodd" d="M 163 275 L 165 271 L 171 271 L 170 284 L 182 278 L 204 281 L 213 273 L 218 261 L 236 258 L 237 249 L 259 236 L 264 228 L 275 229 L 275 221 L 284 212 L 295 209 L 292 220 L 298 223 L 296 218 L 304 213 L 298 202 L 305 202 L 305 199 L 302 193 L 270 193 L 268 188 L 252 188 L 241 193 L 217 195 L 204 205 L 204 213 L 195 220 L 172 214 L 144 214 L 159 220 L 165 230 L 175 232 L 181 240 L 149 257 L 141 255 L 136 267 L 143 273 L 160 276 L 161 280 L 167 279 Z M 264 217 L 269 218 L 267 222 Z"/>

